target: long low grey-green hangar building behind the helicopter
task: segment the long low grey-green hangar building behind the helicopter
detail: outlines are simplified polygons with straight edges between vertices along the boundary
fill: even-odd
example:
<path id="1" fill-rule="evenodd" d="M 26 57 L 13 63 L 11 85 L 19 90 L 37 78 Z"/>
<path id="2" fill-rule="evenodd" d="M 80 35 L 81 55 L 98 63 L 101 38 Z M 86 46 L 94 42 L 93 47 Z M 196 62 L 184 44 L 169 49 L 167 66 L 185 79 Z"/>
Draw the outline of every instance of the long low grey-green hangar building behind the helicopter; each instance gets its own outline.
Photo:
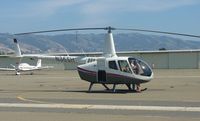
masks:
<path id="1" fill-rule="evenodd" d="M 66 53 L 65 53 L 66 54 Z M 53 55 L 65 55 L 53 54 Z M 102 53 L 70 53 L 74 56 L 99 57 Z M 161 50 L 161 51 L 127 51 L 118 52 L 118 56 L 132 56 L 146 61 L 154 69 L 200 69 L 200 50 Z M 37 59 L 23 58 L 22 62 L 36 64 Z M 0 67 L 10 67 L 16 60 L 0 56 Z M 42 60 L 44 66 L 54 66 L 54 69 L 76 69 L 76 63 L 62 63 L 53 60 Z"/>

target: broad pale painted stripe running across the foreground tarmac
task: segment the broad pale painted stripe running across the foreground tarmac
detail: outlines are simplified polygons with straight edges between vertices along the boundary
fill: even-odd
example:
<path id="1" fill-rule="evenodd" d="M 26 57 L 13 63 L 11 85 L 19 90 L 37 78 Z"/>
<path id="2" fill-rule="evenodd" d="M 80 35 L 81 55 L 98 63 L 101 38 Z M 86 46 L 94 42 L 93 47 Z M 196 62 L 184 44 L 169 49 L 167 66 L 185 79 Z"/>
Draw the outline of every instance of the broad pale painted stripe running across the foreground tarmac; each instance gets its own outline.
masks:
<path id="1" fill-rule="evenodd" d="M 200 107 L 170 107 L 170 106 L 0 103 L 0 107 L 200 112 Z"/>

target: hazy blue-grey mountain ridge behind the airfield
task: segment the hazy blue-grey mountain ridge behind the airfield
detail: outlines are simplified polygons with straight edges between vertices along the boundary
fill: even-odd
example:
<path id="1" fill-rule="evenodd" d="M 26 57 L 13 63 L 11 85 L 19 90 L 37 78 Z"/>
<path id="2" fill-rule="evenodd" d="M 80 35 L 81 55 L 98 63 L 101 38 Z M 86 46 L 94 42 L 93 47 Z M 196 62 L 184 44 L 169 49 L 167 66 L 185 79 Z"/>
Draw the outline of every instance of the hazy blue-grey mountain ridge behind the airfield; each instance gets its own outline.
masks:
<path id="1" fill-rule="evenodd" d="M 0 33 L 0 52 L 14 52 L 13 38 L 19 40 L 23 53 L 101 52 L 105 34 L 60 34 L 14 36 Z M 152 51 L 159 49 L 199 49 L 200 41 L 183 40 L 169 36 L 140 33 L 118 33 L 113 35 L 116 51 Z M 65 50 L 66 49 L 66 50 Z"/>

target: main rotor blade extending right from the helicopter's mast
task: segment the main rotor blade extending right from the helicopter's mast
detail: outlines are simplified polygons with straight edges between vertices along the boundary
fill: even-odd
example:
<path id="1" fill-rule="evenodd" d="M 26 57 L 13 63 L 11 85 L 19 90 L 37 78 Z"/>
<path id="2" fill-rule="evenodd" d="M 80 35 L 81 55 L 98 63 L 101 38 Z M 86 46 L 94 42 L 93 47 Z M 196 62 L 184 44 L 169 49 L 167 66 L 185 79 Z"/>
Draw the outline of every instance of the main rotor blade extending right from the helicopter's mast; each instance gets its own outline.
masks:
<path id="1" fill-rule="evenodd" d="M 198 36 L 198 35 L 193 35 L 193 34 L 183 34 L 183 33 L 176 33 L 176 32 L 155 31 L 155 30 L 146 30 L 146 29 L 125 29 L 125 28 L 115 28 L 115 30 L 128 30 L 128 31 L 139 31 L 139 32 L 161 33 L 161 34 L 179 35 L 179 36 L 187 36 L 187 37 L 200 38 L 200 36 Z"/>

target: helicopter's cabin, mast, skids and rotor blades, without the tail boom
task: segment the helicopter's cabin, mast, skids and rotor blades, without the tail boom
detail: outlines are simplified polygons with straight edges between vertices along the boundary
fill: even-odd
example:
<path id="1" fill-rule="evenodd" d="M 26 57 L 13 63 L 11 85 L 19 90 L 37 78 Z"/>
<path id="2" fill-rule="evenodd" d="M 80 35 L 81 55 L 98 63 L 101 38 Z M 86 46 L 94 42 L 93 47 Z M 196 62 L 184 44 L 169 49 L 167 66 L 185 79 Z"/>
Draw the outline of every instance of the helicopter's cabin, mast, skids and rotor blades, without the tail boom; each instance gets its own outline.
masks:
<path id="1" fill-rule="evenodd" d="M 128 91 L 141 92 L 146 90 L 147 88 L 141 89 L 140 84 L 150 82 L 153 79 L 154 73 L 152 71 L 152 68 L 145 61 L 135 57 L 118 57 L 116 55 L 112 30 L 152 32 L 200 38 L 200 36 L 191 34 L 181 34 L 144 29 L 113 28 L 110 26 L 105 28 L 75 28 L 36 31 L 18 33 L 15 35 L 74 30 L 107 30 L 102 57 L 97 57 L 95 61 L 77 66 L 77 71 L 80 78 L 90 83 L 88 92 L 91 92 L 94 84 L 102 84 L 106 90 L 111 90 L 112 92 L 116 92 L 117 85 L 124 84 L 127 86 Z M 112 89 L 110 89 L 107 86 L 109 84 L 113 85 Z"/>

